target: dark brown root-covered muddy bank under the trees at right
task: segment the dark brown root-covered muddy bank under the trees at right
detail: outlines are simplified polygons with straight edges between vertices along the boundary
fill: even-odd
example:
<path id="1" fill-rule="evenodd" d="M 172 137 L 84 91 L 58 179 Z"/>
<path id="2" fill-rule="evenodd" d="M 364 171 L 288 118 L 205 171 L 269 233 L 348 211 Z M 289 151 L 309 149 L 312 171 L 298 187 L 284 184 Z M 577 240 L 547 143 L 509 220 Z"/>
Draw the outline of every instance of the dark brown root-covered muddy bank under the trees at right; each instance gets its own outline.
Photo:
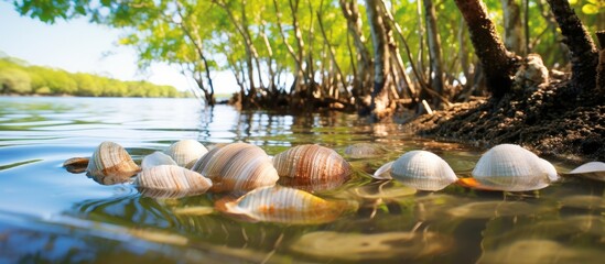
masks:
<path id="1" fill-rule="evenodd" d="M 572 96 L 566 82 L 500 100 L 476 99 L 407 123 L 423 136 L 490 147 L 520 144 L 540 156 L 605 161 L 605 106 L 598 97 Z"/>

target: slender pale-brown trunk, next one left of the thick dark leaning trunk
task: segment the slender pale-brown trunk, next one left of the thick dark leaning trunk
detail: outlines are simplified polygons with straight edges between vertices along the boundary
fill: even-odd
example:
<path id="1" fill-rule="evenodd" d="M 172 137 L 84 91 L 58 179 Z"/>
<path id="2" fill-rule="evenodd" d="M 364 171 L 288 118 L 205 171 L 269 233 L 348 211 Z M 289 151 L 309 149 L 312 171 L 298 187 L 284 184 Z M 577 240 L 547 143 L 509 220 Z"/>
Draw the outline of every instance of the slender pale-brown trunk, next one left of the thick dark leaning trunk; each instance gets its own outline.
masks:
<path id="1" fill-rule="evenodd" d="M 429 57 L 431 61 L 431 87 L 433 90 L 443 96 L 443 59 L 441 57 L 441 41 L 436 25 L 435 7 L 432 0 L 424 0 L 424 15 L 426 18 L 426 38 L 429 43 Z M 421 98 L 423 99 L 423 98 Z M 441 105 L 440 97 L 433 97 L 433 106 L 439 108 Z"/>

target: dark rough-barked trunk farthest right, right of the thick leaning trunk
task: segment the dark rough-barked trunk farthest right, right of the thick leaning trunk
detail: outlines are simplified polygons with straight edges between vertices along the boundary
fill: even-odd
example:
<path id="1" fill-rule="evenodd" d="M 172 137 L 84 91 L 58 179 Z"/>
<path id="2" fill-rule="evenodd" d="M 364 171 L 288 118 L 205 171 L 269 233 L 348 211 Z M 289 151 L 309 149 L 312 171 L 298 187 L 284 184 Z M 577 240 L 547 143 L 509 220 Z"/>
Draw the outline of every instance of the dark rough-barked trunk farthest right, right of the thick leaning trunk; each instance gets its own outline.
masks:
<path id="1" fill-rule="evenodd" d="M 596 46 L 568 0 L 548 0 L 548 3 L 561 29 L 563 43 L 570 48 L 574 91 L 590 92 L 596 87 L 596 65 L 598 64 Z"/>

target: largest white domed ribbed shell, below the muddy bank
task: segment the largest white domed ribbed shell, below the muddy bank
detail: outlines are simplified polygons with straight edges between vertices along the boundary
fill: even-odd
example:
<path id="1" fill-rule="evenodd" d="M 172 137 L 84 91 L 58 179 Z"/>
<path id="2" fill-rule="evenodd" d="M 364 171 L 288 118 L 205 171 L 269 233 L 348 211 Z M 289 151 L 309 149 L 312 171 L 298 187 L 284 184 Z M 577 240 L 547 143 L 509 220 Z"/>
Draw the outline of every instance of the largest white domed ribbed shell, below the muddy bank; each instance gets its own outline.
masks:
<path id="1" fill-rule="evenodd" d="M 472 175 L 479 188 L 525 191 L 547 187 L 557 177 L 555 172 L 550 163 L 530 151 L 500 144 L 482 155 Z"/>

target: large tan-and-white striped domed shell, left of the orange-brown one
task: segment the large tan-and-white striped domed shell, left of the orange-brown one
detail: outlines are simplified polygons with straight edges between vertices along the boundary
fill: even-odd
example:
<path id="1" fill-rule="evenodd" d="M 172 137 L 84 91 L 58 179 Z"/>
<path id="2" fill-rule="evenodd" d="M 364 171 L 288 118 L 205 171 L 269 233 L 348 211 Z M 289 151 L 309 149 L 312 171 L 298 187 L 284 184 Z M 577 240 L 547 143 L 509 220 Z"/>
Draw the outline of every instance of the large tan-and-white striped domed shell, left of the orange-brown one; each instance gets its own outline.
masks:
<path id="1" fill-rule="evenodd" d="M 213 191 L 251 190 L 272 186 L 279 179 L 267 153 L 247 143 L 217 146 L 192 169 L 213 180 Z"/>

